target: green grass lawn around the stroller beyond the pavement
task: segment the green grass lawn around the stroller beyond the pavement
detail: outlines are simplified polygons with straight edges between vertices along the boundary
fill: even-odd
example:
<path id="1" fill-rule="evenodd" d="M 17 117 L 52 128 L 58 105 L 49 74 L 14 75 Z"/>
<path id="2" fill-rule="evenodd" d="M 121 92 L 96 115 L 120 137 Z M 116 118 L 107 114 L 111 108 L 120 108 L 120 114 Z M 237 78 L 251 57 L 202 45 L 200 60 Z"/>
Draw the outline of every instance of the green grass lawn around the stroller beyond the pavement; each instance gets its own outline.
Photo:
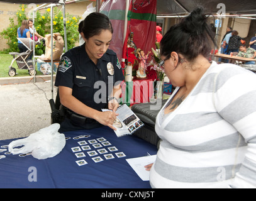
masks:
<path id="1" fill-rule="evenodd" d="M 0 77 L 9 77 L 9 66 L 11 65 L 11 61 L 13 60 L 13 56 L 9 54 L 0 53 Z M 23 76 L 30 76 L 28 73 L 28 70 L 21 70 L 18 68 L 18 65 L 16 61 L 13 63 L 13 68 L 16 68 L 16 73 L 18 73 L 15 76 L 23 77 Z M 35 63 L 35 70 L 36 75 L 43 75 L 42 72 L 39 72 L 37 70 L 37 65 Z"/>

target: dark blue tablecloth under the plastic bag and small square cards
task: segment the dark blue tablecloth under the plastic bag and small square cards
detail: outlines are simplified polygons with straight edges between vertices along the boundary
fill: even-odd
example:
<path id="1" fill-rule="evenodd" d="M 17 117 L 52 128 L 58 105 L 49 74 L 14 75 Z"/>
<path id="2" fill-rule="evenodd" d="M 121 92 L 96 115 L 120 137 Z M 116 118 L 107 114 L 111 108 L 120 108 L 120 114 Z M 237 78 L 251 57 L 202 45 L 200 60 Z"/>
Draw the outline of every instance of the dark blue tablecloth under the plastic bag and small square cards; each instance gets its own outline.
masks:
<path id="1" fill-rule="evenodd" d="M 73 139 L 75 136 L 88 134 L 89 138 Z M 87 131 L 70 131 L 65 133 L 67 139 L 64 149 L 55 157 L 46 160 L 37 160 L 33 156 L 1 155 L 0 159 L 0 188 L 150 188 L 149 182 L 143 182 L 131 166 L 126 162 L 128 158 L 146 156 L 147 153 L 155 155 L 157 148 L 136 136 L 123 136 L 117 138 L 116 134 L 108 128 L 97 128 Z M 86 157 L 77 158 L 71 148 L 79 146 L 77 142 L 86 141 L 86 145 L 93 151 L 88 142 L 91 139 L 105 138 L 111 145 L 103 146 L 108 154 L 114 158 L 95 163 L 87 151 Z M 1 146 L 11 143 L 14 139 L 0 141 Z M 110 152 L 108 147 L 115 146 L 118 151 Z M 123 152 L 126 156 L 118 158 L 115 153 Z M 79 166 L 75 161 L 86 160 L 87 165 Z M 36 180 L 36 182 L 35 182 Z"/>

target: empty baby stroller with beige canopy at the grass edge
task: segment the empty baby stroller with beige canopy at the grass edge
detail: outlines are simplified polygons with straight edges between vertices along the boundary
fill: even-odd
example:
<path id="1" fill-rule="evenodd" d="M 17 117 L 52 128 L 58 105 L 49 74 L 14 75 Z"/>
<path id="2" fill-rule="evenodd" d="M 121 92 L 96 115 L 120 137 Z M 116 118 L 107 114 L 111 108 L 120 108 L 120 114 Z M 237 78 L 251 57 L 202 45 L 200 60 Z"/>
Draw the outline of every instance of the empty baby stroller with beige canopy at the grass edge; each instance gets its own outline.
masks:
<path id="1" fill-rule="evenodd" d="M 36 70 L 33 67 L 33 60 L 27 60 L 30 57 L 31 53 L 33 53 L 33 40 L 30 38 L 17 38 L 23 45 L 28 48 L 26 52 L 18 53 L 18 52 L 9 52 L 10 55 L 13 55 L 13 60 L 11 61 L 11 65 L 9 66 L 9 76 L 13 77 L 16 75 L 16 69 L 12 67 L 13 63 L 16 61 L 19 69 L 28 70 L 28 73 L 31 76 L 36 75 Z M 37 43 L 37 42 L 35 42 Z M 29 48 L 30 47 L 30 48 Z"/>

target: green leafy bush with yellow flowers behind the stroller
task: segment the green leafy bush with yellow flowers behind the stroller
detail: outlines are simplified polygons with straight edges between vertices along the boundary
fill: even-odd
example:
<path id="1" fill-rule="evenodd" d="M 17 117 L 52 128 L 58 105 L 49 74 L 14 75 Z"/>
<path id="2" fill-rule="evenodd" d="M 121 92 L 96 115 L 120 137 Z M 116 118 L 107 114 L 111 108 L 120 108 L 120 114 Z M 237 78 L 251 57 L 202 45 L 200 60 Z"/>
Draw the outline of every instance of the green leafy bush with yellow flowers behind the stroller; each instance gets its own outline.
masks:
<path id="1" fill-rule="evenodd" d="M 8 40 L 9 49 L 6 50 L 7 52 L 19 52 L 18 49 L 18 41 L 17 41 L 17 30 L 19 26 L 21 26 L 21 21 L 23 19 L 28 19 L 26 15 L 26 8 L 27 6 L 21 4 L 19 6 L 19 10 L 16 13 L 16 18 L 18 24 L 14 23 L 14 18 L 9 18 L 10 24 L 6 30 L 3 30 L 0 34 Z M 67 48 L 70 50 L 75 46 L 75 43 L 79 40 L 79 33 L 78 33 L 78 23 L 79 19 L 70 14 L 66 13 L 67 19 Z M 45 13 L 40 13 L 36 11 L 35 19 L 34 19 L 34 26 L 37 33 L 41 36 L 45 36 L 50 34 L 50 8 L 48 8 Z M 53 9 L 53 33 L 60 33 L 60 35 L 64 38 L 64 23 L 63 23 L 63 14 L 62 11 L 59 11 L 58 8 Z M 42 55 L 45 53 L 45 46 L 43 43 L 40 45 L 35 46 L 35 53 L 36 55 Z"/>

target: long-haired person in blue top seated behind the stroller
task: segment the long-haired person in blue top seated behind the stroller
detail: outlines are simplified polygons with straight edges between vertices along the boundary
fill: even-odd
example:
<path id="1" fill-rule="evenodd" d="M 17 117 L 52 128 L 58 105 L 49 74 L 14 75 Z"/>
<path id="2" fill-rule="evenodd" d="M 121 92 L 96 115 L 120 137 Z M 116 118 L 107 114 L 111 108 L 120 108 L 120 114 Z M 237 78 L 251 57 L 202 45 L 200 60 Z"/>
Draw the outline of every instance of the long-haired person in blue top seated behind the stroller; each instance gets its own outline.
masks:
<path id="1" fill-rule="evenodd" d="M 17 30 L 17 37 L 18 38 L 31 38 L 28 21 L 26 19 L 23 19 L 23 21 L 21 22 L 21 26 Z M 26 50 L 28 50 L 28 48 L 26 48 L 26 46 L 23 45 L 21 43 L 21 41 L 19 41 L 19 40 L 18 40 L 18 48 L 19 48 L 19 53 L 26 52 Z"/>

